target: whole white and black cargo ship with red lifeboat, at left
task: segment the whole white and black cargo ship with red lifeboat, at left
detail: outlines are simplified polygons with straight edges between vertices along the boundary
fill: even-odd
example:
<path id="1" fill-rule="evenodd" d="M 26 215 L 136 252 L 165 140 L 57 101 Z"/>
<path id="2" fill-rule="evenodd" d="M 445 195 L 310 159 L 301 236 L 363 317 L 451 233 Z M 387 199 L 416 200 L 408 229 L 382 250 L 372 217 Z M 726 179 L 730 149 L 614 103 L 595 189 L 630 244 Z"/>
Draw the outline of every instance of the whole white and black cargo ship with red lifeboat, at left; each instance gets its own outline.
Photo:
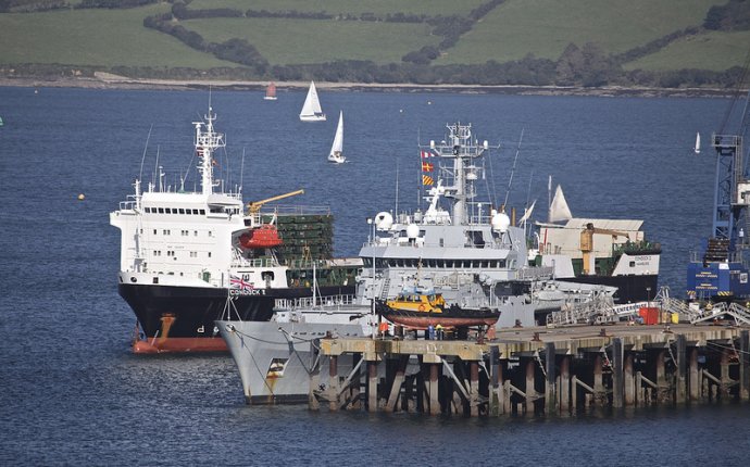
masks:
<path id="1" fill-rule="evenodd" d="M 213 176 L 224 148 L 209 109 L 195 125 L 200 190 L 170 186 L 160 167 L 146 190 L 110 213 L 121 229 L 118 292 L 137 317 L 135 352 L 225 351 L 214 320 L 230 298 L 235 319 L 267 321 L 276 299 L 311 296 L 314 274 L 323 296 L 353 293 L 361 261 L 330 257 L 333 216 L 302 206 L 263 212 L 273 197 L 249 204 L 241 187 L 225 192 Z M 315 272 L 315 273 L 313 273 Z"/>

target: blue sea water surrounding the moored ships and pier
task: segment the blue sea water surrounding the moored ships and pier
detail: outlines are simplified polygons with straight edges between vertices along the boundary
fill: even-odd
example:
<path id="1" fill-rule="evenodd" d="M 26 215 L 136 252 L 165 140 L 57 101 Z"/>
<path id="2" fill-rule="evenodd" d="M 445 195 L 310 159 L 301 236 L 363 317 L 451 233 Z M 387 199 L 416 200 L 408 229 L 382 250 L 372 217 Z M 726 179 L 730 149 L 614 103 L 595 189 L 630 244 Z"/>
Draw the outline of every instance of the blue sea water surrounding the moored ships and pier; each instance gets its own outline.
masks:
<path id="1" fill-rule="evenodd" d="M 504 199 L 517 151 L 509 204 L 546 205 L 552 175 L 574 215 L 645 219 L 663 245 L 661 282 L 678 296 L 688 252 L 711 228 L 714 159 L 692 153 L 695 135 L 708 140 L 728 106 L 324 91 L 329 121 L 302 124 L 303 92 L 267 102 L 260 92 L 0 88 L 0 463 L 747 465 L 747 405 L 512 420 L 310 413 L 246 406 L 228 356 L 130 354 L 135 318 L 116 292 L 120 234 L 108 213 L 139 172 L 150 178 L 157 154 L 172 184 L 195 165 L 191 122 L 209 98 L 227 135 L 218 171 L 232 185 L 241 173 L 247 200 L 303 188 L 295 203 L 329 205 L 339 255 L 357 254 L 367 216 L 417 203 L 417 141 L 471 122 L 479 140 L 501 144 L 488 161 L 493 199 Z M 339 110 L 351 162 L 334 166 L 325 156 Z"/>

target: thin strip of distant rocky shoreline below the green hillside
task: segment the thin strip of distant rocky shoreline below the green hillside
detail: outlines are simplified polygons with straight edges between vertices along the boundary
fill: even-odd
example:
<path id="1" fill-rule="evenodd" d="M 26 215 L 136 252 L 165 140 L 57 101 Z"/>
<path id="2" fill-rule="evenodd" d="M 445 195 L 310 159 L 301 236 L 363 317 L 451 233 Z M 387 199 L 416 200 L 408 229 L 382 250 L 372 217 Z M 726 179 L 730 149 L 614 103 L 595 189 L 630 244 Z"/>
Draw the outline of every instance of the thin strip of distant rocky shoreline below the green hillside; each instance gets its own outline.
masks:
<path id="1" fill-rule="evenodd" d="M 226 90 L 262 90 L 268 81 L 233 81 L 198 79 L 140 79 L 109 73 L 96 73 L 95 77 L 61 78 L 9 78 L 0 77 L 0 86 L 8 87 L 54 87 L 87 89 L 226 89 Z M 277 91 L 284 89 L 307 89 L 309 81 L 276 81 Z M 603 88 L 562 87 L 562 86 L 474 86 L 474 85 L 413 85 L 413 84 L 367 84 L 367 83 L 325 83 L 316 81 L 318 89 L 382 92 L 459 92 L 459 93 L 501 93 L 515 96 L 596 96 L 596 97 L 686 97 L 686 98 L 727 98 L 734 96 L 733 89 L 711 88 L 639 88 L 616 87 Z"/>

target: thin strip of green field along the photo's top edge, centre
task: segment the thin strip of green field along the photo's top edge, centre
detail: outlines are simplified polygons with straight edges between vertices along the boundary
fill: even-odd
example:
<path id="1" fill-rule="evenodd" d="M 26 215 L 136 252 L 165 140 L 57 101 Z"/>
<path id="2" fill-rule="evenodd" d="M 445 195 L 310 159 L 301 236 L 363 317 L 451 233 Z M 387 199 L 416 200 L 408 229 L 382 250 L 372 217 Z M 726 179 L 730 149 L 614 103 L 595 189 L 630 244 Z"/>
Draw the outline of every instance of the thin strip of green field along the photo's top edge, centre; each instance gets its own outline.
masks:
<path id="1" fill-rule="evenodd" d="M 470 11 L 485 3 L 486 0 L 196 0 L 188 7 L 190 10 L 230 8 L 239 11 L 298 11 L 321 12 L 329 14 L 375 13 L 385 16 L 387 13 L 426 14 L 429 16 L 466 15 Z"/>

